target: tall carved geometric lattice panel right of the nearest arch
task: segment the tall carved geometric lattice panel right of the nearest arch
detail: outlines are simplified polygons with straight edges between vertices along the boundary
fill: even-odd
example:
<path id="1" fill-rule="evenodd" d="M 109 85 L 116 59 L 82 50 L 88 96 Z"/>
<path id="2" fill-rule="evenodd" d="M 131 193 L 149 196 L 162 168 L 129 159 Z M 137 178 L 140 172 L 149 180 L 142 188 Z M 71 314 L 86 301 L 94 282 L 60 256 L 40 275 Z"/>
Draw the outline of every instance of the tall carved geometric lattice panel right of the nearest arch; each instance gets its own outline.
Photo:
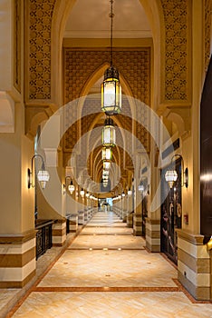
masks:
<path id="1" fill-rule="evenodd" d="M 161 0 L 165 22 L 165 99 L 188 100 L 188 0 Z"/>

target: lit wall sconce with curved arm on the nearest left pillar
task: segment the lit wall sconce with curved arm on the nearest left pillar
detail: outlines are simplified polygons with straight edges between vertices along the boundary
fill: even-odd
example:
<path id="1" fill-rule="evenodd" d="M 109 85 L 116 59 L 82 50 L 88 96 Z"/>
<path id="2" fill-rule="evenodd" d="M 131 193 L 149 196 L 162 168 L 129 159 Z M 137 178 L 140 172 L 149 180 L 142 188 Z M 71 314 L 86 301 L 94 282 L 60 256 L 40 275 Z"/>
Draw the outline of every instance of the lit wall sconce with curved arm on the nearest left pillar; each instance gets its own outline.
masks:
<path id="1" fill-rule="evenodd" d="M 43 160 L 43 156 L 41 154 L 34 154 L 32 158 L 32 165 L 31 165 L 31 170 L 28 168 L 27 170 L 27 175 L 28 175 L 28 189 L 31 188 L 31 186 L 34 188 L 33 184 L 33 171 L 34 171 L 34 158 L 39 157 L 42 159 L 42 167 L 41 170 L 38 171 L 37 174 L 37 180 L 41 184 L 42 189 L 45 188 L 46 183 L 49 181 L 50 175 L 47 170 L 45 170 L 45 164 Z"/>

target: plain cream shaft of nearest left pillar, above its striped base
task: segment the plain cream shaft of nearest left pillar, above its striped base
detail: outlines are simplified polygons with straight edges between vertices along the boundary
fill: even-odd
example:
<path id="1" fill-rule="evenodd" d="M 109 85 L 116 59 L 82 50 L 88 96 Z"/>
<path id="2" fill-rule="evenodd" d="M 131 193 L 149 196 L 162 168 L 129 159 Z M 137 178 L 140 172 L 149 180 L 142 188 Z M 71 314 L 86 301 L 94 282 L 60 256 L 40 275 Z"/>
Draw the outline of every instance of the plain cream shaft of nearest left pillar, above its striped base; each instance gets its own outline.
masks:
<path id="1" fill-rule="evenodd" d="M 34 191 L 27 188 L 34 143 L 24 136 L 24 106 L 15 104 L 14 133 L 0 135 L 0 234 L 34 228 Z"/>

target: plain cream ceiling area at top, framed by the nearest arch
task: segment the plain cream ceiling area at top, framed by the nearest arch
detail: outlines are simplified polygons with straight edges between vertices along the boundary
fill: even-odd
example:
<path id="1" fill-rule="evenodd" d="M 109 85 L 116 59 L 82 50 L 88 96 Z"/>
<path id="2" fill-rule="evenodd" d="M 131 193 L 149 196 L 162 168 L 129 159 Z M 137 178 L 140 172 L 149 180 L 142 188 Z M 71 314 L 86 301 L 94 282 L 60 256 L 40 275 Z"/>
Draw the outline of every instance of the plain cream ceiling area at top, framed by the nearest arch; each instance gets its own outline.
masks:
<path id="1" fill-rule="evenodd" d="M 110 0 L 77 0 L 68 18 L 64 37 L 110 37 L 110 10 Z M 149 22 L 140 0 L 114 0 L 113 14 L 114 37 L 151 37 Z"/>

